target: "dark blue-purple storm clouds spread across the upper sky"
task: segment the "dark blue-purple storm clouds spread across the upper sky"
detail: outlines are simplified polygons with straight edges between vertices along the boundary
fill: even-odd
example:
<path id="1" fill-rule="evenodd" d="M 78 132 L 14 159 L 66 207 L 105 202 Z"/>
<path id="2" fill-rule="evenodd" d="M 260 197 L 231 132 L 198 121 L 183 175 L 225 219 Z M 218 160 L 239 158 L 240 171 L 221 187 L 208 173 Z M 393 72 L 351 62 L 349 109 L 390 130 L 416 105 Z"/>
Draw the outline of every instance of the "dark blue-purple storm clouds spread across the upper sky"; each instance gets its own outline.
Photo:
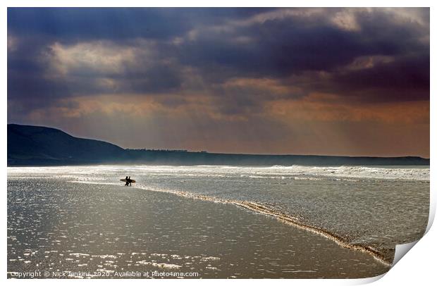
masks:
<path id="1" fill-rule="evenodd" d="M 429 9 L 402 10 L 414 12 L 415 21 L 402 16 L 401 10 L 313 10 L 9 8 L 8 32 L 16 38 L 17 47 L 8 53 L 8 96 L 177 92 L 181 87 L 192 88 L 183 82 L 184 67 L 191 67 L 203 85 L 221 84 L 233 77 L 282 80 L 326 71 L 333 74 L 332 81 L 321 83 L 326 92 L 391 89 L 388 99 L 396 100 L 396 91 L 407 88 L 418 89 L 412 99 L 417 93 L 421 99 L 426 97 Z M 115 72 L 83 66 L 68 70 L 65 77 L 53 70 L 49 76 L 44 74 L 49 63 L 42 58 L 56 56 L 50 50 L 54 43 L 68 49 L 104 40 L 107 46 L 143 49 L 138 39 L 153 41 L 147 47 L 152 53 L 135 54 L 135 64 L 123 63 Z M 394 62 L 366 70 L 341 70 L 359 56 L 372 55 L 391 56 Z M 116 85 L 97 85 L 101 78 Z M 214 95 L 222 89 L 209 92 Z M 252 93 L 240 95 L 245 99 Z M 399 99 L 408 99 L 406 92 L 400 93 L 404 95 Z M 290 92 L 290 97 L 296 93 Z"/>

